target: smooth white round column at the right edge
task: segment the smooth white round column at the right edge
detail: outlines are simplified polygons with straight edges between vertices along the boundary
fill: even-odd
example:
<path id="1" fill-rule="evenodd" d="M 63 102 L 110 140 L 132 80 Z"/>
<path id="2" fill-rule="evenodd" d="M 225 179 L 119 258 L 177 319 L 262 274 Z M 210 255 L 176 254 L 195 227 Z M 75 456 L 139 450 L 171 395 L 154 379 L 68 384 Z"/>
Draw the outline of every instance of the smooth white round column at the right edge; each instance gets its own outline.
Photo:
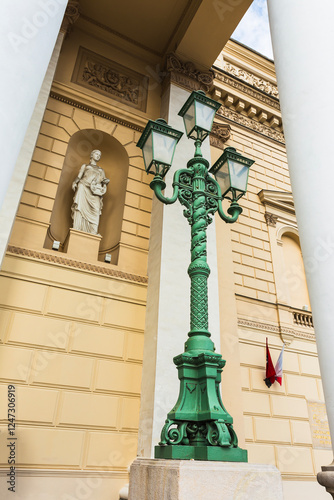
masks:
<path id="1" fill-rule="evenodd" d="M 334 442 L 334 2 L 268 0 L 292 192 Z"/>

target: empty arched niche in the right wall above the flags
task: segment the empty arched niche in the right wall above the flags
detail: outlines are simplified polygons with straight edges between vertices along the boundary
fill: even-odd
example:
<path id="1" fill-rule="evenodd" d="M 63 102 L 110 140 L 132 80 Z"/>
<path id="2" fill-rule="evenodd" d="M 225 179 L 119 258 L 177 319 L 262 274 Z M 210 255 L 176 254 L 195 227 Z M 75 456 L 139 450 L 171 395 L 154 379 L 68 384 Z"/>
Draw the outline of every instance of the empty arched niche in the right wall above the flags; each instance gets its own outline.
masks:
<path id="1" fill-rule="evenodd" d="M 278 232 L 284 260 L 284 282 L 289 291 L 290 306 L 310 310 L 303 256 L 298 231 L 294 227 L 283 227 Z"/>

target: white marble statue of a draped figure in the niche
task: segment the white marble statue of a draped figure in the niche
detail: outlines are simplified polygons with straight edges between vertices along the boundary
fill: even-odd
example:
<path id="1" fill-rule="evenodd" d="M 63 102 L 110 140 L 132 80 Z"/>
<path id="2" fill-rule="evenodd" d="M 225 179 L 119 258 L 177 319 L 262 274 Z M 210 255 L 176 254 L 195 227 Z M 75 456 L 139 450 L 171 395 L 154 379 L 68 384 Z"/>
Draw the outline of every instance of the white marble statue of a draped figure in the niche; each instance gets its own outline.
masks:
<path id="1" fill-rule="evenodd" d="M 98 234 L 102 197 L 109 183 L 104 170 L 97 165 L 100 159 L 101 151 L 94 149 L 90 154 L 89 164 L 82 165 L 72 184 L 75 191 L 72 205 L 73 229 L 91 234 Z"/>

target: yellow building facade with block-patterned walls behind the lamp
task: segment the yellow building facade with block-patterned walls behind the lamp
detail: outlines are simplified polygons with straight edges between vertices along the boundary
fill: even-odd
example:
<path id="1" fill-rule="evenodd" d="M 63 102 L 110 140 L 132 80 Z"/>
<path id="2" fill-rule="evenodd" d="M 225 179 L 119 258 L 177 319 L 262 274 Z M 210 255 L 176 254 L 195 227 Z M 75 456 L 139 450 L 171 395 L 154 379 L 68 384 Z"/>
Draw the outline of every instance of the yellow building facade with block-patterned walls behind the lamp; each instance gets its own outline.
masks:
<path id="1" fill-rule="evenodd" d="M 1 269 L 0 391 L 6 402 L 15 386 L 18 498 L 118 500 L 141 453 L 147 268 L 161 249 L 149 248 L 151 178 L 136 143 L 170 86 L 221 103 L 212 163 L 226 146 L 255 160 L 238 222 L 215 220 L 224 404 L 249 461 L 280 470 L 287 500 L 323 498 L 316 474 L 331 442 L 274 64 L 234 41 L 211 69 L 173 47 L 161 59 L 87 11 L 81 2 L 62 43 Z M 93 149 L 110 178 L 101 237 L 71 229 L 71 185 Z M 266 338 L 274 363 L 286 345 L 282 386 L 269 389 Z"/>

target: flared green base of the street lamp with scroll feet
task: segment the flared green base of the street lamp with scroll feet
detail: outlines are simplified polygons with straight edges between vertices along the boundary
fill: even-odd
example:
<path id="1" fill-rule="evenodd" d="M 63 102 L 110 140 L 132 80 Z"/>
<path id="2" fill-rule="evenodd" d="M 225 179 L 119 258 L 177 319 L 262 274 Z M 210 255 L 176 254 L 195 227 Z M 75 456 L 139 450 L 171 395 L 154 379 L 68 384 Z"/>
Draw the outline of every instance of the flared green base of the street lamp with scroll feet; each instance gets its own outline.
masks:
<path id="1" fill-rule="evenodd" d="M 221 372 L 225 361 L 213 351 L 174 358 L 180 380 L 179 399 L 168 414 L 155 457 L 180 460 L 247 462 L 247 451 L 238 448 L 232 417 L 221 397 Z"/>

